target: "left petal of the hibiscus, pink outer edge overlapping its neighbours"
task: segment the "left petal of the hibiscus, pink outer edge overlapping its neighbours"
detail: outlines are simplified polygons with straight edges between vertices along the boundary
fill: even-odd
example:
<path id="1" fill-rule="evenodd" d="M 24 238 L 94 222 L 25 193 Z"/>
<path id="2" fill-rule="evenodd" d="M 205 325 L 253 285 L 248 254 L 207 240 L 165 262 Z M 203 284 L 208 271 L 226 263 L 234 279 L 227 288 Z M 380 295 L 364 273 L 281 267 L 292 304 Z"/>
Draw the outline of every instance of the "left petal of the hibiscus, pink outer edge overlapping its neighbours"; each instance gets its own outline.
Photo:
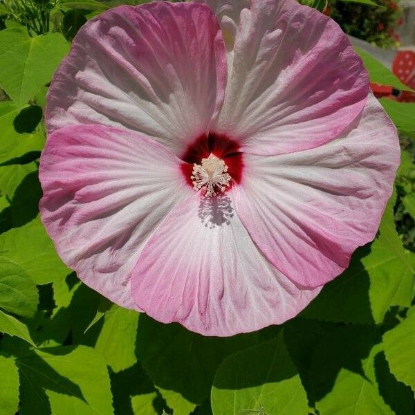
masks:
<path id="1" fill-rule="evenodd" d="M 53 132 L 40 160 L 40 213 L 59 256 L 82 281 L 136 308 L 130 276 L 145 241 L 192 190 L 158 142 L 115 127 Z"/>

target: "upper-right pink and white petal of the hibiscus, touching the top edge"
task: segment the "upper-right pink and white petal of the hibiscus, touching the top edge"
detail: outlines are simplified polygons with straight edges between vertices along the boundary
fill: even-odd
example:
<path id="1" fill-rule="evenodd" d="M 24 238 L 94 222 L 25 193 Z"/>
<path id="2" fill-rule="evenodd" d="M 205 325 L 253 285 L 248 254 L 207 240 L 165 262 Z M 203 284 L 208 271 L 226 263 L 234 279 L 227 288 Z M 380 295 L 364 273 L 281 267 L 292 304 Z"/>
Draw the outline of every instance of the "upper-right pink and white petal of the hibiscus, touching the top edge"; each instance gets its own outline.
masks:
<path id="1" fill-rule="evenodd" d="M 205 2 L 219 19 L 236 10 L 231 0 Z M 262 155 L 333 140 L 361 113 L 369 92 L 349 39 L 335 21 L 295 0 L 248 3 L 239 10 L 225 101 L 213 129 L 239 140 L 242 151 Z"/>

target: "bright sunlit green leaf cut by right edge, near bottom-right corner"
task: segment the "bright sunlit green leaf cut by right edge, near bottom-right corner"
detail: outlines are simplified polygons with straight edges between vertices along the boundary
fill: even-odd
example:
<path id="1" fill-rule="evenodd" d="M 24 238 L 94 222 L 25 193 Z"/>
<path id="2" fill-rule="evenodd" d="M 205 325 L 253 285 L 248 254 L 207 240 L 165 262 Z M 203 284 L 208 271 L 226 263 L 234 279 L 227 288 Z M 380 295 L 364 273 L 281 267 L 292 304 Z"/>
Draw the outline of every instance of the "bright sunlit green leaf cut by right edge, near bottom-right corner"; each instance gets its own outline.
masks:
<path id="1" fill-rule="evenodd" d="M 415 307 L 394 329 L 383 335 L 383 347 L 392 373 L 415 391 Z"/>

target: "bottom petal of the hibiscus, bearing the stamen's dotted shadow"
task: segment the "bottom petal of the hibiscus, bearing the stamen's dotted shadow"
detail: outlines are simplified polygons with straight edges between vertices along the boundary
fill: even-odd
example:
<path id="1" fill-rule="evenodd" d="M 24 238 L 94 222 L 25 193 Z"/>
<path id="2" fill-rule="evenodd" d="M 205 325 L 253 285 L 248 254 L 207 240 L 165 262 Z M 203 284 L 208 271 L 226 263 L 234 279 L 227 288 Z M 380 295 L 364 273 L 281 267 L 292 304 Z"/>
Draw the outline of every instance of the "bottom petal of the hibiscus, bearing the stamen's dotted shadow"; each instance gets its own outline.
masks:
<path id="1" fill-rule="evenodd" d="M 227 196 L 176 205 L 133 270 L 133 299 L 160 322 L 203 335 L 250 332 L 294 317 L 320 288 L 300 290 L 261 255 Z"/>

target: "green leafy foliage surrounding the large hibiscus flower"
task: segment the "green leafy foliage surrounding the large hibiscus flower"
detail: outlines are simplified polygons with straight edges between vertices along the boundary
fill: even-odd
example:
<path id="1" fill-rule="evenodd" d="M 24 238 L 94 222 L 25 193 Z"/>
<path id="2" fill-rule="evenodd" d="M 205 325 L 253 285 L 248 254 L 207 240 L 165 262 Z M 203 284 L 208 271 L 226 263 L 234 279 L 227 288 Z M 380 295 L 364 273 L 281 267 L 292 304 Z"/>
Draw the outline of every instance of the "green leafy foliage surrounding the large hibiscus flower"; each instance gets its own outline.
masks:
<path id="1" fill-rule="evenodd" d="M 77 28 L 116 3 L 0 3 L 0 415 L 413 415 L 415 104 L 381 100 L 403 152 L 378 236 L 282 326 L 203 338 L 62 264 L 37 208 L 45 95 Z M 371 80 L 402 86 L 359 53 Z"/>

